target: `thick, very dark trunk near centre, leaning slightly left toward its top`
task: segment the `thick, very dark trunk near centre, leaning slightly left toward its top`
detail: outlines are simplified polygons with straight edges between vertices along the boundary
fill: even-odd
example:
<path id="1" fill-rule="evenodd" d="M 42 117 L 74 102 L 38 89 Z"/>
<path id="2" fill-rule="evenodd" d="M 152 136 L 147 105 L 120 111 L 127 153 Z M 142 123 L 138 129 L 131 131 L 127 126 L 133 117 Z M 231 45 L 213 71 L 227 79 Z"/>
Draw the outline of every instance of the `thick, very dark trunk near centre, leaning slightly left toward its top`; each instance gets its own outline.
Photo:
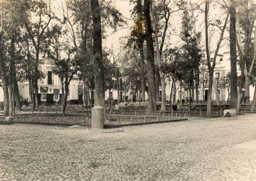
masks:
<path id="1" fill-rule="evenodd" d="M 148 111 L 156 113 L 157 104 L 156 104 L 156 82 L 155 82 L 155 70 L 154 70 L 154 47 L 153 47 L 153 38 L 152 38 L 152 27 L 151 27 L 151 18 L 150 18 L 150 0 L 144 1 L 144 14 L 146 18 L 145 23 L 145 37 L 146 37 L 146 46 L 147 46 L 147 69 L 148 69 L 148 84 L 149 84 L 149 107 Z"/>

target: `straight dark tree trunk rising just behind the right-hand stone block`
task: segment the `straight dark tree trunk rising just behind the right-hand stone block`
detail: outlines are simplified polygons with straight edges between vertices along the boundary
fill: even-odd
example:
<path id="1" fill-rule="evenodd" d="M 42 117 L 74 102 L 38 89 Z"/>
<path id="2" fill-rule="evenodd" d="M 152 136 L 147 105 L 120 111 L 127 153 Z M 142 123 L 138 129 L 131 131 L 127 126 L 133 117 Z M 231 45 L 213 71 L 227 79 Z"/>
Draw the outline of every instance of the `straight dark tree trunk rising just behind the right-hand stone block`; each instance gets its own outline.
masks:
<path id="1" fill-rule="evenodd" d="M 230 7 L 230 109 L 236 109 L 238 104 L 238 90 L 237 90 L 237 71 L 236 71 L 236 27 L 235 27 L 234 6 Z"/>

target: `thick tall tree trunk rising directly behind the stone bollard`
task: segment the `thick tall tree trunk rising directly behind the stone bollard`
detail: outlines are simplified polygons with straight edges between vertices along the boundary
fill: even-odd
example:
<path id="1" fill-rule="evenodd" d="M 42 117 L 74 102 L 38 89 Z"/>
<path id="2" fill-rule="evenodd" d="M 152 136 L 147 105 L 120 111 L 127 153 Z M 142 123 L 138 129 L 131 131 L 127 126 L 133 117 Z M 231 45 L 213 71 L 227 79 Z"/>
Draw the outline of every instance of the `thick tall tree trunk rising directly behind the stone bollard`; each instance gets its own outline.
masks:
<path id="1" fill-rule="evenodd" d="M 102 27 L 100 6 L 98 0 L 91 0 L 92 26 L 93 26 L 93 54 L 94 54 L 94 79 L 95 99 L 94 106 L 105 108 L 104 71 L 102 59 Z"/>

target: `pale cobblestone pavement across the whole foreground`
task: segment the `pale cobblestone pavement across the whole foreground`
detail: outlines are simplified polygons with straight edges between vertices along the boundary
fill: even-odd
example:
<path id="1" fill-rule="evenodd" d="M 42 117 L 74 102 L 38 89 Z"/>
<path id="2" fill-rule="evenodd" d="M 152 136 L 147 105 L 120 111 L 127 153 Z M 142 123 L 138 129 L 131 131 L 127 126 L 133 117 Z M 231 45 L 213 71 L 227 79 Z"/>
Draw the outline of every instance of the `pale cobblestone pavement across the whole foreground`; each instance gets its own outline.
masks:
<path id="1" fill-rule="evenodd" d="M 254 140 L 256 115 L 104 130 L 0 125 L 0 180 L 256 180 L 256 148 L 241 146 Z"/>

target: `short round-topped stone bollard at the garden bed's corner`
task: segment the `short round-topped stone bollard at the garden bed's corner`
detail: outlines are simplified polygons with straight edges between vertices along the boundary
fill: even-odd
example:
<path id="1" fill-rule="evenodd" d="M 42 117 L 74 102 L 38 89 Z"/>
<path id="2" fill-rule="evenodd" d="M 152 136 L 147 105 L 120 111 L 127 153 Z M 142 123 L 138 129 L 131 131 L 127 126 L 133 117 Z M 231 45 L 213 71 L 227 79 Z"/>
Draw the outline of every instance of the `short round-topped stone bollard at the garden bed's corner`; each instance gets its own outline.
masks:
<path id="1" fill-rule="evenodd" d="M 92 108 L 91 128 L 104 128 L 104 108 L 95 106 Z"/>

